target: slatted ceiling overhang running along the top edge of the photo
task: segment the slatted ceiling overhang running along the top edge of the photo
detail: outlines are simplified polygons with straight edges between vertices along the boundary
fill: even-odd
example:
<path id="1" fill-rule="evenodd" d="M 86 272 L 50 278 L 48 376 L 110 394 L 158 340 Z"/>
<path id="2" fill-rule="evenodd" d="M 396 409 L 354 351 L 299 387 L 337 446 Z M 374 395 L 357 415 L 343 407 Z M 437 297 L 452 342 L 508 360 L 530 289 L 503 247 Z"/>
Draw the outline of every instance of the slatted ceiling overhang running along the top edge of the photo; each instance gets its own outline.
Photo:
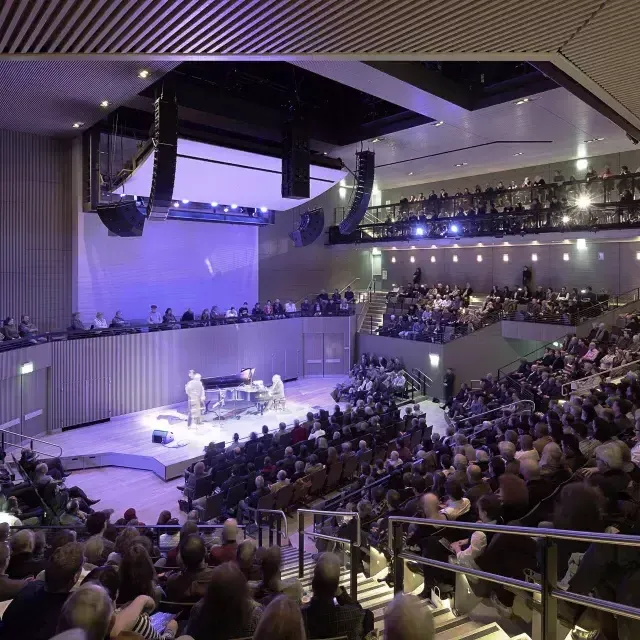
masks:
<path id="1" fill-rule="evenodd" d="M 2 0 L 0 55 L 562 55 L 636 116 L 631 0 Z"/>

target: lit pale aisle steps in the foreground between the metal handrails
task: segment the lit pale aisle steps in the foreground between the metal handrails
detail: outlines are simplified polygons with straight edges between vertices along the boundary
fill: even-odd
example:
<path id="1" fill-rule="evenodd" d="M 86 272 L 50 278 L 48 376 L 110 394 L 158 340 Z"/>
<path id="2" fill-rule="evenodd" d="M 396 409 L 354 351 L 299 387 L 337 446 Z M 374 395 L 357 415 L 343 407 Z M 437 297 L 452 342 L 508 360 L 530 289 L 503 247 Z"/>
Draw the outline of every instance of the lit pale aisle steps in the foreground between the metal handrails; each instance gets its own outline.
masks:
<path id="1" fill-rule="evenodd" d="M 310 553 L 304 554 L 304 577 L 300 580 L 303 593 L 311 595 L 311 581 L 315 562 Z M 298 577 L 298 549 L 282 548 L 282 579 L 290 580 Z M 340 586 L 349 590 L 349 569 L 343 568 L 340 574 Z M 421 591 L 418 587 L 416 591 Z M 384 629 L 384 610 L 393 600 L 393 588 L 384 580 L 367 578 L 358 574 L 358 602 L 369 609 L 374 616 L 375 629 L 382 635 Z M 445 601 L 445 603 L 448 601 Z M 496 622 L 483 624 L 472 620 L 468 615 L 457 615 L 448 604 L 437 607 L 431 600 L 424 599 L 424 606 L 431 610 L 435 626 L 436 640 L 510 640 L 510 636 Z M 517 640 L 528 638 L 526 634 L 518 635 Z M 516 640 L 514 637 L 512 640 Z"/>

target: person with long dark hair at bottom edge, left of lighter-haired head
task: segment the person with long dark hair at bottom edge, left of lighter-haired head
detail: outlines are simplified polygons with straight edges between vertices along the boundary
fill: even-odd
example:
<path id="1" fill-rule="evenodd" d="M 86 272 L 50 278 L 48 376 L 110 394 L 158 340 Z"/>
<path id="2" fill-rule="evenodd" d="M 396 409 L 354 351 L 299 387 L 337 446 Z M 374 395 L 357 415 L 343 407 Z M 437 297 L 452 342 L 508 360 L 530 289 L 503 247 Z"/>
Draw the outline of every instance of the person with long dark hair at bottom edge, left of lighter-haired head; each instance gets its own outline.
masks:
<path id="1" fill-rule="evenodd" d="M 256 630 L 262 612 L 262 606 L 249 597 L 238 566 L 226 562 L 213 570 L 206 595 L 191 610 L 186 634 L 194 640 L 246 638 Z"/>

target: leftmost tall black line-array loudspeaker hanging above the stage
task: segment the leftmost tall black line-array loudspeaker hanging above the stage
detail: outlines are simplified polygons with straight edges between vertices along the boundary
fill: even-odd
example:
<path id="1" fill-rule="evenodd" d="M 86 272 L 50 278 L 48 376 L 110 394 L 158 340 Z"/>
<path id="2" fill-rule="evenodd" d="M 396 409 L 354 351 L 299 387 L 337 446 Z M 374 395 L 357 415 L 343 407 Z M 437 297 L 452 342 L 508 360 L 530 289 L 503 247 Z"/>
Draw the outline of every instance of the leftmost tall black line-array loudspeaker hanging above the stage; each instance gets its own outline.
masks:
<path id="1" fill-rule="evenodd" d="M 173 202 L 178 157 L 178 103 L 171 89 L 162 88 L 154 104 L 153 177 L 147 216 L 166 220 Z"/>

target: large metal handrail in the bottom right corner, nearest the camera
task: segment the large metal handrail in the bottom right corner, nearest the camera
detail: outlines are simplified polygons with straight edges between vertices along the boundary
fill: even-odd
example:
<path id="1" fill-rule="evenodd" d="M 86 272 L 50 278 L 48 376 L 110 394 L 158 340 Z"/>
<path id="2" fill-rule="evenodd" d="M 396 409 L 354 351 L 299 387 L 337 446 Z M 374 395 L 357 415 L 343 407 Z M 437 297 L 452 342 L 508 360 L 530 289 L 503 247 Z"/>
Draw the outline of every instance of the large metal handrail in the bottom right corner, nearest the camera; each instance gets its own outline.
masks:
<path id="1" fill-rule="evenodd" d="M 396 526 L 399 524 L 413 524 L 416 526 L 433 526 L 437 528 L 462 529 L 465 531 L 483 531 L 492 533 L 502 533 L 509 535 L 526 536 L 544 541 L 544 553 L 542 554 L 542 572 L 541 583 L 525 582 L 516 578 L 501 576 L 500 574 L 490 573 L 486 571 L 478 571 L 462 567 L 461 565 L 440 562 L 430 558 L 424 558 L 415 554 L 409 554 L 402 551 L 399 545 L 402 544 L 402 536 L 396 538 L 394 533 Z M 452 571 L 454 573 L 463 573 L 465 575 L 476 576 L 498 582 L 500 584 L 510 585 L 519 589 L 524 589 L 533 593 L 542 595 L 542 638 L 543 640 L 555 640 L 556 638 L 556 620 L 557 620 L 557 602 L 556 600 L 564 600 L 581 606 L 607 611 L 614 615 L 621 615 L 628 618 L 640 620 L 640 608 L 621 605 L 615 602 L 601 600 L 591 596 L 581 594 L 573 594 L 559 590 L 557 588 L 557 547 L 553 544 L 554 540 L 573 540 L 579 542 L 589 542 L 597 544 L 618 544 L 622 546 L 640 547 L 640 536 L 611 534 L 611 533 L 591 533 L 584 531 L 571 531 L 568 529 L 548 529 L 537 527 L 521 527 L 514 525 L 497 525 L 484 522 L 456 522 L 447 520 L 433 520 L 427 518 L 409 518 L 404 516 L 389 516 L 388 519 L 389 532 L 389 549 L 394 554 L 394 577 L 396 592 L 402 591 L 403 587 L 403 570 L 401 560 L 406 559 L 419 564 L 433 566 L 440 569 Z"/>

